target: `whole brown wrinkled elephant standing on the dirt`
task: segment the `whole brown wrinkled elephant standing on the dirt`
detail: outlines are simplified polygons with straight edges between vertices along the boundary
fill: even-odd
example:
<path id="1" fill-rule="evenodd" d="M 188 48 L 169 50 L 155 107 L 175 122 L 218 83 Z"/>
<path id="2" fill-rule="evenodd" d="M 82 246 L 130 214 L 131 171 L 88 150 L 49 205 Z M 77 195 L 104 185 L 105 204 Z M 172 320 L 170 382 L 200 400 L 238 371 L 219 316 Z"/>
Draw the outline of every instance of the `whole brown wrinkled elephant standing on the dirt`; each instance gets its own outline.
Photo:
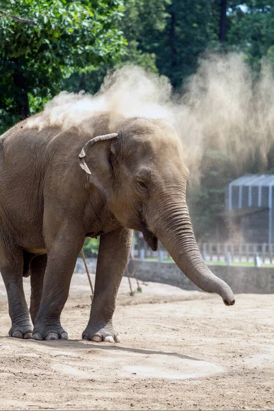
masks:
<path id="1" fill-rule="evenodd" d="M 39 132 L 22 122 L 0 138 L 0 270 L 10 336 L 68 338 L 60 314 L 77 255 L 87 236 L 100 235 L 95 295 L 82 337 L 119 341 L 112 314 L 132 229 L 153 250 L 159 239 L 192 282 L 234 304 L 232 290 L 211 273 L 197 248 L 186 205 L 188 170 L 173 127 L 139 118 L 110 129 L 108 114 L 97 114 L 90 129 L 93 137 L 118 136 L 86 145 L 92 136 L 75 129 Z M 28 310 L 23 275 L 29 274 Z"/>

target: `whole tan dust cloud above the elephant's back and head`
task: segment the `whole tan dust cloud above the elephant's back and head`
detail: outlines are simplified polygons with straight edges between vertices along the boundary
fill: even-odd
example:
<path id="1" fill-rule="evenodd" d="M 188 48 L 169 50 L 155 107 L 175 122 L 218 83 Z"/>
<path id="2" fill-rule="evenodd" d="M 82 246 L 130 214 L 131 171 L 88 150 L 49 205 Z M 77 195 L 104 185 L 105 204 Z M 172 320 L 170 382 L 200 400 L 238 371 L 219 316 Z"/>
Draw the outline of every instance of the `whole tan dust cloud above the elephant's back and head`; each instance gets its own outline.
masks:
<path id="1" fill-rule="evenodd" d="M 166 77 L 123 66 L 105 77 L 96 95 L 61 92 L 28 124 L 88 132 L 94 112 L 110 112 L 114 122 L 121 116 L 166 119 L 177 129 L 194 175 L 199 175 L 206 147 L 220 149 L 233 164 L 254 153 L 260 153 L 263 162 L 273 141 L 273 73 L 267 61 L 254 75 L 243 55 L 209 54 L 175 94 Z"/>

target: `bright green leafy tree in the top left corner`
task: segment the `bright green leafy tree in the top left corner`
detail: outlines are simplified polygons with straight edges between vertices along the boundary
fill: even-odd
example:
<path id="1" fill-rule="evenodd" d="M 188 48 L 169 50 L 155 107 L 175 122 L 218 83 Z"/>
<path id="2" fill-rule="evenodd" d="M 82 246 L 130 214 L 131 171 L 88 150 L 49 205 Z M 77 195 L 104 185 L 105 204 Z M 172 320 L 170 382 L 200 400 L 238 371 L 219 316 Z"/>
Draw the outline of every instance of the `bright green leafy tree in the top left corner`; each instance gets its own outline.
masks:
<path id="1" fill-rule="evenodd" d="M 120 0 L 10 0 L 0 9 L 1 123 L 42 108 L 75 71 L 125 53 Z M 29 108 L 29 100 L 34 106 Z M 1 125 L 0 125 L 1 127 Z"/>

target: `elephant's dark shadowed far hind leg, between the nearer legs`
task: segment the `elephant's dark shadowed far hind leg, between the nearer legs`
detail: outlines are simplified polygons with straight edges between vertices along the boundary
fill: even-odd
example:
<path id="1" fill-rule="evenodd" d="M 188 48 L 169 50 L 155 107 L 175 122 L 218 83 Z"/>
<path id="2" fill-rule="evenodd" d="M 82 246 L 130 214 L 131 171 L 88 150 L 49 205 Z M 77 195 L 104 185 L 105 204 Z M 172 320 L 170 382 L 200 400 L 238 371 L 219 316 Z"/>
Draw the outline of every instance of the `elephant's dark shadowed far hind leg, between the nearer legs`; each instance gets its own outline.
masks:
<path id="1" fill-rule="evenodd" d="M 32 288 L 32 293 L 30 296 L 29 312 L 33 324 L 40 307 L 46 266 L 47 254 L 34 257 L 30 263 L 30 284 Z"/>

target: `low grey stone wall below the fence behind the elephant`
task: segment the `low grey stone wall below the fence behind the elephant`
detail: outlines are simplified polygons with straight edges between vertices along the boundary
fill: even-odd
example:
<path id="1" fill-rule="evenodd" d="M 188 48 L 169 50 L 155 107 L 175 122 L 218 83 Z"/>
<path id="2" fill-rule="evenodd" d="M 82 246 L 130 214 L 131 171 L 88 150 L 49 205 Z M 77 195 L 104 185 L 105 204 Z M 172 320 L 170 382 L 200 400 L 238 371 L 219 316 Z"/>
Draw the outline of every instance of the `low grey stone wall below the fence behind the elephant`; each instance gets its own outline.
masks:
<path id="1" fill-rule="evenodd" d="M 184 288 L 184 290 L 199 290 L 195 284 L 172 262 L 147 262 L 134 260 L 138 279 L 142 281 L 160 282 Z M 95 273 L 96 260 L 87 258 L 88 268 Z M 130 267 L 129 267 L 130 268 Z M 211 271 L 223 279 L 236 293 L 274 293 L 274 269 L 240 266 L 210 266 Z M 77 260 L 75 272 L 84 272 L 84 264 Z M 131 270 L 132 271 L 132 270 Z"/>

